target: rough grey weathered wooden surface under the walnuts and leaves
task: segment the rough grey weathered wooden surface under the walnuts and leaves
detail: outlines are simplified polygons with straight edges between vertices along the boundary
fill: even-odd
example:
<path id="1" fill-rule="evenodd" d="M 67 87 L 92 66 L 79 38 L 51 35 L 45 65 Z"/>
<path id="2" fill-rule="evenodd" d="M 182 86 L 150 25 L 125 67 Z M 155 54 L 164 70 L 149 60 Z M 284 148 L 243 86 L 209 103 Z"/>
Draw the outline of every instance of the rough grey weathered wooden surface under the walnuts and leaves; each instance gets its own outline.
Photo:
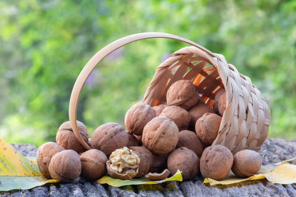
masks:
<path id="1" fill-rule="evenodd" d="M 29 144 L 13 144 L 25 156 L 35 157 L 37 148 Z M 263 164 L 272 164 L 296 157 L 296 140 L 267 139 L 259 154 Z M 294 161 L 293 164 L 296 164 Z M 197 176 L 191 181 L 167 182 L 160 185 L 111 187 L 77 178 L 74 183 L 47 184 L 31 190 L 10 191 L 0 195 L 14 197 L 296 197 L 296 184 L 272 184 L 266 179 L 246 181 L 227 187 L 203 184 Z"/>

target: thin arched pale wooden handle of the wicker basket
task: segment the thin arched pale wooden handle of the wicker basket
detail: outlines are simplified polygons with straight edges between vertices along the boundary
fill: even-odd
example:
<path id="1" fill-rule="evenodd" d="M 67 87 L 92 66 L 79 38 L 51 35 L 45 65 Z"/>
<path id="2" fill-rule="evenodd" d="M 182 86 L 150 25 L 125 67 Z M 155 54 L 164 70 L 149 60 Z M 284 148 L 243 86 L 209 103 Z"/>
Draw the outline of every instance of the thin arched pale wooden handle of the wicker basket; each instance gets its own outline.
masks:
<path id="1" fill-rule="evenodd" d="M 78 100 L 79 100 L 80 93 L 81 93 L 81 90 L 83 88 L 83 85 L 84 85 L 86 79 L 88 78 L 88 76 L 90 75 L 92 70 L 111 52 L 115 51 L 116 49 L 118 49 L 128 43 L 131 43 L 131 42 L 134 42 L 137 40 L 148 39 L 148 38 L 169 38 L 169 39 L 179 40 L 179 41 L 185 42 L 187 44 L 190 44 L 192 46 L 195 46 L 195 47 L 201 49 L 202 51 L 204 51 L 205 53 L 208 53 L 209 55 L 216 57 L 217 59 L 220 60 L 220 58 L 218 56 L 216 56 L 214 53 L 212 53 L 211 51 L 207 50 L 206 48 L 196 44 L 195 42 L 192 42 L 192 41 L 185 39 L 183 37 L 169 34 L 169 33 L 149 32 L 149 33 L 132 34 L 132 35 L 128 35 L 126 37 L 120 38 L 120 39 L 112 42 L 111 44 L 105 46 L 103 49 L 101 49 L 98 53 L 96 53 L 88 61 L 88 63 L 84 66 L 84 68 L 82 69 L 82 71 L 78 75 L 76 82 L 74 84 L 73 90 L 72 90 L 70 103 L 69 103 L 69 119 L 70 119 L 71 127 L 74 131 L 76 138 L 79 140 L 79 142 L 86 149 L 89 150 L 91 148 L 82 139 L 82 137 L 78 131 L 77 124 L 76 124 Z"/>

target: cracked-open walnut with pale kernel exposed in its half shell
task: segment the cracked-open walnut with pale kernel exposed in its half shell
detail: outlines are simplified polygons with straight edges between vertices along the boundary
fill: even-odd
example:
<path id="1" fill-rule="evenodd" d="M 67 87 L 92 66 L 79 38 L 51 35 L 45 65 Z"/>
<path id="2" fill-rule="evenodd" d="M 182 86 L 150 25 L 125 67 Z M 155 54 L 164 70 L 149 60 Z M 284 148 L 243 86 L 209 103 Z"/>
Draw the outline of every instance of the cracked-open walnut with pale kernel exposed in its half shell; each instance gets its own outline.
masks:
<path id="1" fill-rule="evenodd" d="M 110 155 L 107 170 L 112 178 L 131 180 L 139 172 L 139 157 L 127 147 L 117 149 Z"/>

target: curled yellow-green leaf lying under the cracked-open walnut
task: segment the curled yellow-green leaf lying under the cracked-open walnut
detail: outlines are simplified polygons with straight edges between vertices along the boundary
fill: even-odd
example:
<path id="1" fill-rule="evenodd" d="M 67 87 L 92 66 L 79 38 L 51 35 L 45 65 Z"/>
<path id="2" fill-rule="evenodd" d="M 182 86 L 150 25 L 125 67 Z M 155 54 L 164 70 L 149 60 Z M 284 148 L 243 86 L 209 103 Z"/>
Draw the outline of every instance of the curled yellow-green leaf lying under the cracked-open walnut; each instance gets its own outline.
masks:
<path id="1" fill-rule="evenodd" d="M 97 183 L 100 183 L 100 184 L 106 183 L 106 184 L 111 185 L 113 187 L 121 187 L 121 186 L 125 186 L 125 185 L 141 185 L 141 184 L 153 185 L 153 184 L 164 183 L 167 181 L 183 181 L 181 172 L 178 170 L 176 172 L 176 174 L 174 174 L 174 176 L 172 176 L 170 178 L 166 178 L 161 181 L 149 181 L 148 179 L 145 179 L 145 178 L 132 179 L 132 180 L 120 180 L 120 179 L 114 179 L 110 176 L 103 176 L 101 179 L 99 179 L 97 181 Z"/>

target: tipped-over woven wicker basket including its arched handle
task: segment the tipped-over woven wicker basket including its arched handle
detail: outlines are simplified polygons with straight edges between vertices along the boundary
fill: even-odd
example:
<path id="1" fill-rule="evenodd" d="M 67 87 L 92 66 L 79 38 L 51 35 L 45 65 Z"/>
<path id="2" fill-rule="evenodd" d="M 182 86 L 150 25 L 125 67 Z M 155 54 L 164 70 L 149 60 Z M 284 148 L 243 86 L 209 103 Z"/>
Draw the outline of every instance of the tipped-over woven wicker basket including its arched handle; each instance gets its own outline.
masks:
<path id="1" fill-rule="evenodd" d="M 91 71 L 112 51 L 137 40 L 171 38 L 192 46 L 180 49 L 156 68 L 144 102 L 156 106 L 166 102 L 168 88 L 180 79 L 193 82 L 206 104 L 213 106 L 217 92 L 226 91 L 226 109 L 214 144 L 226 146 L 233 154 L 243 149 L 259 151 L 268 135 L 270 110 L 249 77 L 215 54 L 185 38 L 167 33 L 139 33 L 123 37 L 101 49 L 79 74 L 70 99 L 69 118 L 77 139 L 90 149 L 76 125 L 78 99 Z"/>

